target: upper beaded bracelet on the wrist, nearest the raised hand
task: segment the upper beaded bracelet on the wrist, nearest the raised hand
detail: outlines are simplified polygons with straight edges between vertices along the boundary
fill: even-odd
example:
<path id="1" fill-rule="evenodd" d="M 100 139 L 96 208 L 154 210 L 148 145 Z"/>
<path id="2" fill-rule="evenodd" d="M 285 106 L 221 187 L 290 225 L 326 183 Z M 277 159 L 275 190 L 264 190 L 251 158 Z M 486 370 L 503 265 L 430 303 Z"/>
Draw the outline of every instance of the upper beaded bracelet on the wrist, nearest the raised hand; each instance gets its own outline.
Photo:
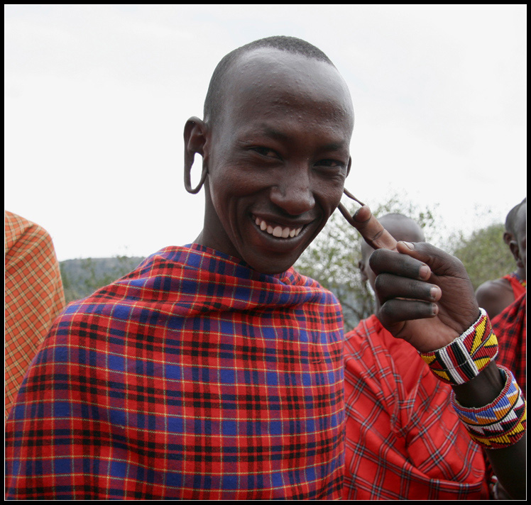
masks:
<path id="1" fill-rule="evenodd" d="M 444 348 L 420 353 L 429 369 L 448 384 L 464 384 L 483 370 L 498 354 L 498 340 L 486 311 L 462 335 Z"/>

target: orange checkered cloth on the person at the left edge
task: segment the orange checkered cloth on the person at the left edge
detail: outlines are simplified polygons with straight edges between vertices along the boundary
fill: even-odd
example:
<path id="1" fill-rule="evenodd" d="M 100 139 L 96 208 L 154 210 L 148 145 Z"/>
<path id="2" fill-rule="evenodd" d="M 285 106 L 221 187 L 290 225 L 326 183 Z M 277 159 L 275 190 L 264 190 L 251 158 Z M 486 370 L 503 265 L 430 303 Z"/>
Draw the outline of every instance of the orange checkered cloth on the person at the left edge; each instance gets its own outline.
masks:
<path id="1" fill-rule="evenodd" d="M 35 223 L 4 211 L 5 417 L 38 346 L 65 308 L 52 238 Z"/>

